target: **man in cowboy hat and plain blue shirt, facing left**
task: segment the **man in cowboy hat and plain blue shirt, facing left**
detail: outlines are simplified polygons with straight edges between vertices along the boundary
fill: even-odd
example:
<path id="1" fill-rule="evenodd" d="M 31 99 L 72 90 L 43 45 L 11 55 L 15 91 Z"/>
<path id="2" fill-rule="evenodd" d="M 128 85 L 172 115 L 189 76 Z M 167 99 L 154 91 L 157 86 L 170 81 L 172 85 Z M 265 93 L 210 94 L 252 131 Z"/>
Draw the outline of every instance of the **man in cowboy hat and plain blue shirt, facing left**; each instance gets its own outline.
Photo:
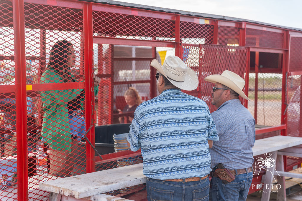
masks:
<path id="1" fill-rule="evenodd" d="M 210 75 L 204 80 L 215 83 L 212 104 L 217 110 L 211 115 L 220 139 L 210 150 L 211 168 L 221 163 L 235 176 L 234 181 L 224 184 L 213 173 L 212 200 L 246 200 L 253 176 L 255 119 L 239 100 L 239 96 L 249 100 L 242 91 L 245 81 L 231 71 Z"/>

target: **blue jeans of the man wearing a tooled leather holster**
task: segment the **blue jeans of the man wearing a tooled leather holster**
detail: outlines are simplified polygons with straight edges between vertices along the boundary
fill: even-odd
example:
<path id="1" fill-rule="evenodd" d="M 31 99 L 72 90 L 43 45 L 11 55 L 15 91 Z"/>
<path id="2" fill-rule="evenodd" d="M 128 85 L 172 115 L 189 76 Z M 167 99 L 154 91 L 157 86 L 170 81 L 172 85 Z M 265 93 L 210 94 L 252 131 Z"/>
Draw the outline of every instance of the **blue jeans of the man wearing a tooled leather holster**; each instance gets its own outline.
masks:
<path id="1" fill-rule="evenodd" d="M 253 172 L 237 174 L 234 181 L 224 184 L 220 178 L 212 177 L 210 183 L 212 201 L 242 201 L 246 200 L 251 187 Z"/>

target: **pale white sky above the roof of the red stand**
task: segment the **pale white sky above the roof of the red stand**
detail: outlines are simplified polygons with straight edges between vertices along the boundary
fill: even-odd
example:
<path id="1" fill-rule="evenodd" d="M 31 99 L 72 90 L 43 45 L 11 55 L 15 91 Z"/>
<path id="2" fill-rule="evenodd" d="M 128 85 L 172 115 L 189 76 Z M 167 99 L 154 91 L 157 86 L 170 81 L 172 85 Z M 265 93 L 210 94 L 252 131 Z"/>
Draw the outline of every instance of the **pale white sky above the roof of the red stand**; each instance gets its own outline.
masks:
<path id="1" fill-rule="evenodd" d="M 120 0 L 302 29 L 302 0 Z"/>

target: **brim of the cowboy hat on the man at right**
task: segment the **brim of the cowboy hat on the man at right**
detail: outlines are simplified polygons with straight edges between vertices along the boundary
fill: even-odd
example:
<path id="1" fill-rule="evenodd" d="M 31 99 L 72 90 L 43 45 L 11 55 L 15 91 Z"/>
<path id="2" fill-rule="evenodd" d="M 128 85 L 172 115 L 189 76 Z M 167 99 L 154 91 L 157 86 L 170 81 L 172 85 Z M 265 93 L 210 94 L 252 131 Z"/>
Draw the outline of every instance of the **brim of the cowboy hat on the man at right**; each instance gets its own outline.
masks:
<path id="1" fill-rule="evenodd" d="M 239 96 L 250 101 L 250 99 L 245 95 L 245 93 L 232 80 L 227 77 L 224 77 L 222 75 L 209 75 L 205 77 L 204 80 L 212 83 L 218 82 L 220 84 L 223 84 L 229 87 L 230 89 L 234 90 L 236 93 L 239 94 Z"/>

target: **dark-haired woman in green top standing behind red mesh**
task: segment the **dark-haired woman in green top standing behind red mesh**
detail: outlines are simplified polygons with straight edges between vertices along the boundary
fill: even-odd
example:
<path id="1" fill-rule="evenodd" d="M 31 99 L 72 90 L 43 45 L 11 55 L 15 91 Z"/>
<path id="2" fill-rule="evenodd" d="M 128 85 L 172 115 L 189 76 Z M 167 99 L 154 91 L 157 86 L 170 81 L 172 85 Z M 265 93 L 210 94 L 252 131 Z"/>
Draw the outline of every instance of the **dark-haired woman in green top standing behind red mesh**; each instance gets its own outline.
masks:
<path id="1" fill-rule="evenodd" d="M 76 82 L 70 72 L 70 68 L 75 66 L 75 58 L 72 43 L 66 40 L 56 42 L 51 49 L 49 63 L 42 74 L 41 83 Z M 94 77 L 95 95 L 98 93 L 100 81 L 99 77 Z M 44 111 L 42 136 L 50 148 L 50 174 L 60 177 L 70 176 L 78 140 L 81 139 L 79 135 L 74 137 L 77 130 L 75 127 L 85 129 L 83 113 L 81 114 L 83 121 L 79 125 L 76 125 L 70 116 L 75 114 L 73 110 L 82 112 L 85 92 L 79 89 L 52 90 L 41 92 L 41 96 Z M 72 106 L 75 104 L 77 107 Z M 82 133 L 85 133 L 85 130 Z"/>

